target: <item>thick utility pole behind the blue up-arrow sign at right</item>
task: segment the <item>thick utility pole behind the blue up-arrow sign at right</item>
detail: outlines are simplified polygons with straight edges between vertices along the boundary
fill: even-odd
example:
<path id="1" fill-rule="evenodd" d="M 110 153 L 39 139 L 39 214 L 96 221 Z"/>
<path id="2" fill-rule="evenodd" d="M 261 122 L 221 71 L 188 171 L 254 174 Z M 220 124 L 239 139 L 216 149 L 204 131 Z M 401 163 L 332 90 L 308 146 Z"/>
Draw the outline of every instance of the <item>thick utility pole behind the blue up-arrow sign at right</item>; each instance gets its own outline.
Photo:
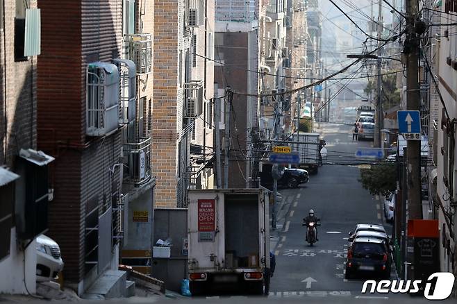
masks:
<path id="1" fill-rule="evenodd" d="M 406 108 L 419 110 L 419 39 L 416 32 L 418 2 L 406 1 Z M 422 219 L 421 178 L 420 178 L 420 140 L 408 140 L 406 170 L 408 178 L 408 214 L 410 219 Z"/>

